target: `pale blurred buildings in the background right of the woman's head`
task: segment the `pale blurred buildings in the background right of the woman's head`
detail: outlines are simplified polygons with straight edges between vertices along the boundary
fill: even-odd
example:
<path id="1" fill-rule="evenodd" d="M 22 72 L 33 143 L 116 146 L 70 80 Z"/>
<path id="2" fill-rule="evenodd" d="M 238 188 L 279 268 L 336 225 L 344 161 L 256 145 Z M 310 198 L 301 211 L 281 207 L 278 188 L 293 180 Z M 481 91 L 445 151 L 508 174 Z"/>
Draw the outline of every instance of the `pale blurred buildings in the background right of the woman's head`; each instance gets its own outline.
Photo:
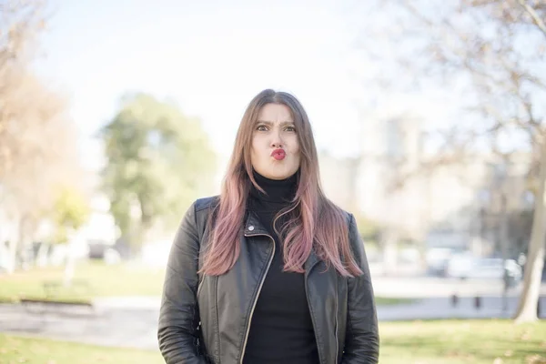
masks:
<path id="1" fill-rule="evenodd" d="M 507 198 L 506 211 L 530 206 L 525 183 L 530 155 L 515 155 L 506 163 L 484 152 L 465 163 L 425 169 L 420 166 L 435 157 L 427 150 L 428 137 L 419 116 L 366 123 L 360 156 L 321 153 L 327 195 L 341 207 L 395 228 L 399 239 L 491 255 L 502 239 L 501 197 Z"/>

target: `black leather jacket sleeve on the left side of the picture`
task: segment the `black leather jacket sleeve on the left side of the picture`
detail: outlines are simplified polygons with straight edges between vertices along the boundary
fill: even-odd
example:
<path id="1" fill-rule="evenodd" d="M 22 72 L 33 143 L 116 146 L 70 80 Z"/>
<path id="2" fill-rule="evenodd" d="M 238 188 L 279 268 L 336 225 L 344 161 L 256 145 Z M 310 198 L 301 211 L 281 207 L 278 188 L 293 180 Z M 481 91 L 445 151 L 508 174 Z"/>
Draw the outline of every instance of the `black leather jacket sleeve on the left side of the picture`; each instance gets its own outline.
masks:
<path id="1" fill-rule="evenodd" d="M 170 250 L 157 329 L 167 364 L 206 364 L 197 353 L 199 234 L 195 203 L 187 210 Z"/>

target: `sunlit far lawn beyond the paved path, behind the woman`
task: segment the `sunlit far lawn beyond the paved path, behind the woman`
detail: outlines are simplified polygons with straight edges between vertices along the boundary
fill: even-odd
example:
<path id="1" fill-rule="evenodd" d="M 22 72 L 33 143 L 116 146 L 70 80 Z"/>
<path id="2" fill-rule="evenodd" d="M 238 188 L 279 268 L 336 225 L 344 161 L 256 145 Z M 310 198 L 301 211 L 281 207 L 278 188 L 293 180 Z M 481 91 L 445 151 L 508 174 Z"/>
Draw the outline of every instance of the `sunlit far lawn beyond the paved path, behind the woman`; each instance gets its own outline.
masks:
<path id="1" fill-rule="evenodd" d="M 99 262 L 76 265 L 75 284 L 65 288 L 63 267 L 33 268 L 15 274 L 0 275 L 0 302 L 18 302 L 21 298 L 88 302 L 92 298 L 111 296 L 160 296 L 165 270 L 136 263 L 107 266 Z M 57 287 L 46 297 L 44 283 Z M 395 305 L 411 301 L 406 298 L 376 298 L 378 305 Z"/>

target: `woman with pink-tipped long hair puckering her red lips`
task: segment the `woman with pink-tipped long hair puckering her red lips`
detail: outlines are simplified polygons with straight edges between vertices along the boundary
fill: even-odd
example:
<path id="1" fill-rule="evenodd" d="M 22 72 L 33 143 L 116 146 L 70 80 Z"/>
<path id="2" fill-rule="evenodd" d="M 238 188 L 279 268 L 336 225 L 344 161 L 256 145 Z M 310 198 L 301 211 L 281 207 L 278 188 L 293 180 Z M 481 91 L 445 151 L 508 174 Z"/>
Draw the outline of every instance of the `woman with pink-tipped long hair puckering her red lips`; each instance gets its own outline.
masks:
<path id="1" fill-rule="evenodd" d="M 187 211 L 158 327 L 167 364 L 377 363 L 364 247 L 319 184 L 308 116 L 287 93 L 248 105 L 219 197 Z"/>

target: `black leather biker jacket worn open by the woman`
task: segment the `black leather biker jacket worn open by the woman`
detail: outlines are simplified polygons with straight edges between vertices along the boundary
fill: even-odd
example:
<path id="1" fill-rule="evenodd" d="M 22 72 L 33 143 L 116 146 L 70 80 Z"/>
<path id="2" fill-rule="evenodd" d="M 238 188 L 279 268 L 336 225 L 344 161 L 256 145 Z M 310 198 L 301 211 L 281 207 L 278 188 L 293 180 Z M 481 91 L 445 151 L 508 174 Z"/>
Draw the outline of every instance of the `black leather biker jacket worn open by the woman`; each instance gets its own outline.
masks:
<path id="1" fill-rule="evenodd" d="M 217 197 L 187 211 L 168 258 L 157 337 L 167 364 L 242 363 L 250 319 L 273 258 L 274 240 L 252 214 L 246 217 L 237 263 L 222 276 L 197 275 L 201 242 Z M 315 254 L 305 263 L 305 287 L 320 364 L 377 363 L 379 333 L 368 261 L 354 217 L 349 238 L 357 278 L 325 271 Z M 200 323 L 200 325 L 199 325 Z"/>

